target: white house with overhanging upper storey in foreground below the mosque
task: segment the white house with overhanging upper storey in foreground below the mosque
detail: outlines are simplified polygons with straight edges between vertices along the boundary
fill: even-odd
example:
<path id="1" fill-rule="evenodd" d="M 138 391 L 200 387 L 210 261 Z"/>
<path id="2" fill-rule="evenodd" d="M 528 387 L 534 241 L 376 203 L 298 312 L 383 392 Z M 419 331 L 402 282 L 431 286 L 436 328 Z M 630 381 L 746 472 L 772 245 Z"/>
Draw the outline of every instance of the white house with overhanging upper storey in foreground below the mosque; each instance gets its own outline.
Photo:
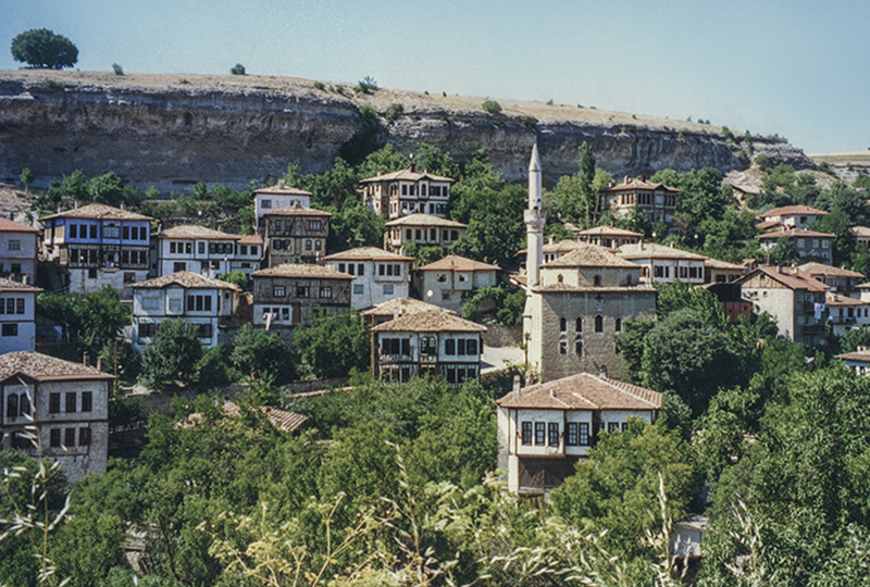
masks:
<path id="1" fill-rule="evenodd" d="M 498 465 L 508 489 L 543 495 L 574 474 L 602 434 L 619 434 L 630 417 L 654 423 L 661 394 L 589 373 L 514 390 L 498 404 Z"/>

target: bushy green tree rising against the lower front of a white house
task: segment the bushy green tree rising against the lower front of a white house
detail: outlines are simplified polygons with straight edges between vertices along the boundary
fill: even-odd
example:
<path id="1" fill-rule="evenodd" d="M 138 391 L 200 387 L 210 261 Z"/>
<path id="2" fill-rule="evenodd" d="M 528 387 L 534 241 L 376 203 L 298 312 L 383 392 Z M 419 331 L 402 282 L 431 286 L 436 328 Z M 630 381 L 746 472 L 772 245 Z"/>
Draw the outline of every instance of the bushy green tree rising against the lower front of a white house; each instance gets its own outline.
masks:
<path id="1" fill-rule="evenodd" d="M 202 358 L 199 328 L 183 319 L 164 320 L 142 352 L 139 380 L 152 389 L 171 389 L 195 380 Z"/>

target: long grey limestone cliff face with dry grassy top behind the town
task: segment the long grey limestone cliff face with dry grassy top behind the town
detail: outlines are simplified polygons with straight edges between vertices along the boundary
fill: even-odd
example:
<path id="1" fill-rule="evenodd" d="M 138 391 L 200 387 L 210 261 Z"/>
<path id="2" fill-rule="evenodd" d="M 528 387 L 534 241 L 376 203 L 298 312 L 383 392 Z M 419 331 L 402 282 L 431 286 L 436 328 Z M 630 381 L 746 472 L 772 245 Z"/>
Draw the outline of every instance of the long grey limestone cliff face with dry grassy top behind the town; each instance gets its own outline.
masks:
<path id="1" fill-rule="evenodd" d="M 535 141 L 549 183 L 576 173 L 584 140 L 598 166 L 617 176 L 747 165 L 718 127 L 592 109 L 517 102 L 492 115 L 474 99 L 390 90 L 355 98 L 298 80 L 156 85 L 53 75 L 0 73 L 0 180 L 14 182 L 24 167 L 37 175 L 37 186 L 75 170 L 88 176 L 114 171 L 133 185 L 169 191 L 199 180 L 247 187 L 282 175 L 291 161 L 306 173 L 322 172 L 363 124 L 363 103 L 381 115 L 380 138 L 399 151 L 413 153 L 424 141 L 462 161 L 483 149 L 509 179 L 525 177 Z M 387 103 L 405 108 L 391 123 L 383 117 Z M 776 163 L 812 165 L 786 142 L 755 137 L 754 148 Z"/>

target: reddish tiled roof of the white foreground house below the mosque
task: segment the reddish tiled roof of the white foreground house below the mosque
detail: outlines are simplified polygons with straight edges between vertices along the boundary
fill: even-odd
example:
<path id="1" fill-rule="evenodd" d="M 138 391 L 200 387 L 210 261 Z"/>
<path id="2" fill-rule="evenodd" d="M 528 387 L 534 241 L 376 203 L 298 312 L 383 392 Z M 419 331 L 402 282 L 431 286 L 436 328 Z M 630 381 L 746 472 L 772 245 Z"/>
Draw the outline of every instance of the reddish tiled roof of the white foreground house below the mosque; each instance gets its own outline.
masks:
<path id="1" fill-rule="evenodd" d="M 616 379 L 580 373 L 508 394 L 502 408 L 542 410 L 659 410 L 661 394 Z"/>

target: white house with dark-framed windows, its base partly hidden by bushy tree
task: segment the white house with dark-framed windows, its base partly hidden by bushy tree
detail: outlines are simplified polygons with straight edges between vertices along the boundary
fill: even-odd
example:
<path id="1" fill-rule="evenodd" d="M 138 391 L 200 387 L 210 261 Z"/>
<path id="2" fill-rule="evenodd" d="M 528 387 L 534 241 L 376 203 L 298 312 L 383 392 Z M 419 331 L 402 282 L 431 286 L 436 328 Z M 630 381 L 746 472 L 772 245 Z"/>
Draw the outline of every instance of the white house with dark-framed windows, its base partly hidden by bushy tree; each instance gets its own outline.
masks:
<path id="1" fill-rule="evenodd" d="M 199 328 L 203 347 L 219 342 L 222 319 L 232 316 L 238 307 L 241 289 L 237 285 L 183 271 L 134 284 L 133 346 L 141 350 L 153 339 L 158 324 L 184 319 Z"/>

